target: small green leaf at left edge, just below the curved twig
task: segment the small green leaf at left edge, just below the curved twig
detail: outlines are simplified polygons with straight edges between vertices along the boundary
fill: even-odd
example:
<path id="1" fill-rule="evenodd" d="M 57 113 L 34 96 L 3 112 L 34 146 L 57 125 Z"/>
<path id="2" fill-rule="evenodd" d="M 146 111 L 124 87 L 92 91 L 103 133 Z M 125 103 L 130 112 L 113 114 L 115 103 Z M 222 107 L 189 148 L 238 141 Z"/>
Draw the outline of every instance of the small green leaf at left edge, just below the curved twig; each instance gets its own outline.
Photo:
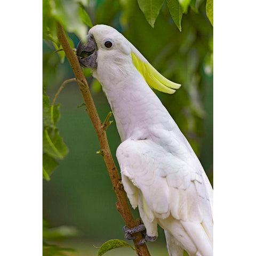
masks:
<path id="1" fill-rule="evenodd" d="M 56 127 L 60 119 L 60 104 L 50 105 L 47 95 L 43 95 L 43 123 L 44 126 Z"/>

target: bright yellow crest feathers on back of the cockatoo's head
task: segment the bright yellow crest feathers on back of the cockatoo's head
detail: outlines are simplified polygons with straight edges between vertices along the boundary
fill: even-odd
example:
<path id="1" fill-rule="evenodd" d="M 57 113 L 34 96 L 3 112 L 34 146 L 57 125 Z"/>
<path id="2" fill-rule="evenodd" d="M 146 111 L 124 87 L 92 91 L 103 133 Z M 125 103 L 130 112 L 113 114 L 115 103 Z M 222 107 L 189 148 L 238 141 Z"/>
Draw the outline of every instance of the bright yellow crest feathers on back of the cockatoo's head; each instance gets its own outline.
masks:
<path id="1" fill-rule="evenodd" d="M 174 93 L 176 91 L 174 89 L 179 89 L 181 84 L 171 82 L 162 76 L 149 62 L 142 61 L 134 52 L 131 52 L 131 54 L 134 66 L 150 87 L 169 94 Z"/>

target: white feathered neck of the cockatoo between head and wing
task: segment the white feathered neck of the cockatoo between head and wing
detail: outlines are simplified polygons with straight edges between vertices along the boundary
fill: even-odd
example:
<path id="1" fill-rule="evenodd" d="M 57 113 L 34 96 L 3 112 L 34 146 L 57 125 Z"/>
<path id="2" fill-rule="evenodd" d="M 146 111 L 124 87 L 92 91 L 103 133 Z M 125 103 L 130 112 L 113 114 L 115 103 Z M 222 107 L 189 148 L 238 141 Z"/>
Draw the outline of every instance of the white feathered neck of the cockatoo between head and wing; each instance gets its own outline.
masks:
<path id="1" fill-rule="evenodd" d="M 98 67 L 93 75 L 106 93 L 122 141 L 146 139 L 150 127 L 161 126 L 163 118 L 164 122 L 169 119 L 169 113 L 133 65 L 105 67 L 102 72 Z"/>

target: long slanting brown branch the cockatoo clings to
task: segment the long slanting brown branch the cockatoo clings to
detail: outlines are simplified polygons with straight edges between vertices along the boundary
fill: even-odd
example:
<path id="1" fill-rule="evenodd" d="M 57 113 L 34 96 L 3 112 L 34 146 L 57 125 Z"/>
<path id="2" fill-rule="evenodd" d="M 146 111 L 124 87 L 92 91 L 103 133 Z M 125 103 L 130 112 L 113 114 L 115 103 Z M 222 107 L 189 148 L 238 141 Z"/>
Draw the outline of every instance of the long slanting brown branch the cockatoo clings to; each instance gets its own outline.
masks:
<path id="1" fill-rule="evenodd" d="M 99 116 L 98 116 L 97 110 L 96 110 L 94 102 L 92 100 L 92 95 L 90 93 L 89 86 L 84 77 L 82 69 L 79 65 L 78 59 L 68 43 L 67 37 L 65 35 L 65 31 L 59 23 L 57 26 L 57 35 L 58 35 L 59 41 L 60 41 L 65 53 L 66 53 L 66 56 L 70 63 L 70 66 L 72 67 L 72 69 L 74 71 L 77 82 L 79 84 L 79 88 L 80 88 L 83 98 L 84 98 L 87 112 L 91 118 L 94 129 L 97 133 L 99 143 L 100 143 L 100 148 L 101 148 L 100 151 L 102 152 L 103 159 L 107 166 L 109 177 L 111 179 L 113 188 L 114 188 L 116 196 L 117 196 L 117 200 L 118 200 L 116 202 L 117 210 L 122 215 L 124 222 L 128 228 L 135 227 L 140 224 L 140 220 L 139 219 L 135 220 L 132 216 L 129 204 L 127 202 L 127 197 L 126 197 L 126 193 L 124 191 L 124 187 L 122 185 L 121 179 L 119 177 L 119 173 L 116 169 L 115 163 L 113 161 L 113 158 L 112 158 L 112 155 L 110 152 L 106 131 L 100 121 Z M 147 249 L 146 244 L 139 245 L 139 246 L 136 245 L 142 238 L 142 234 L 137 233 L 137 234 L 134 234 L 134 236 L 137 236 L 137 238 L 135 238 L 133 240 L 137 254 L 139 256 L 150 256 L 150 253 Z"/>

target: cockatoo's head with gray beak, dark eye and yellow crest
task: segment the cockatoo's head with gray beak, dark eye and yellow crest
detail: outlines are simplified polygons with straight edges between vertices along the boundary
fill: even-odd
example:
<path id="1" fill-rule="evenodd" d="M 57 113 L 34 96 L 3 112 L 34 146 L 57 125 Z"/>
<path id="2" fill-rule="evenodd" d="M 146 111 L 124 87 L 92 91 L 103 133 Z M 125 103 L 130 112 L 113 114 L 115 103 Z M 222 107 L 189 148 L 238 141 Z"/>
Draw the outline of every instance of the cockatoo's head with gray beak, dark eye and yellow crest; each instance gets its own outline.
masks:
<path id="1" fill-rule="evenodd" d="M 82 67 L 93 69 L 101 61 L 119 64 L 131 61 L 148 85 L 158 91 L 172 94 L 181 86 L 159 74 L 121 33 L 106 25 L 92 27 L 85 42 L 78 43 L 76 54 Z"/>

